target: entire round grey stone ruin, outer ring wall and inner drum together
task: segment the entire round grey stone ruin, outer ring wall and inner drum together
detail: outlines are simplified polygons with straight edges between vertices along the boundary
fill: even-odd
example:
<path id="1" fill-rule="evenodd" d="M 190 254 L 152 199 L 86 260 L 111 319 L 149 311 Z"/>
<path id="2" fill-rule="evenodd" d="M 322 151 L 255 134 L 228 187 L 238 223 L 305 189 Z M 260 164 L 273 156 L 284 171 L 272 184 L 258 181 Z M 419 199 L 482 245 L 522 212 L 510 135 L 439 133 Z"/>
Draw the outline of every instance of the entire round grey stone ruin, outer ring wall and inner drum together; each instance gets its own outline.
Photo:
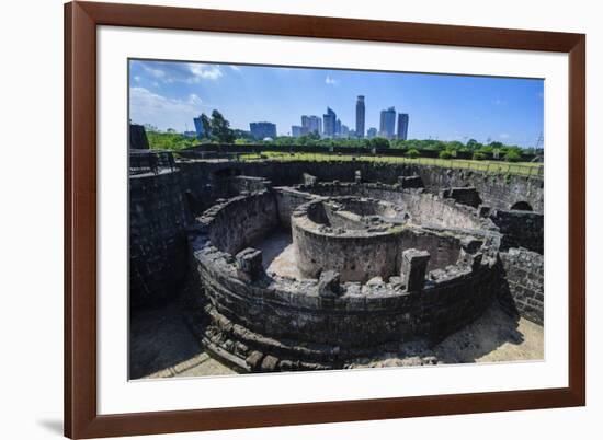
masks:
<path id="1" fill-rule="evenodd" d="M 299 277 L 266 273 L 251 247 L 280 229 L 292 231 Z M 477 209 L 397 185 L 219 200 L 190 233 L 194 296 L 209 319 L 202 341 L 243 371 L 344 368 L 392 345 L 433 344 L 490 304 L 499 246 Z"/>

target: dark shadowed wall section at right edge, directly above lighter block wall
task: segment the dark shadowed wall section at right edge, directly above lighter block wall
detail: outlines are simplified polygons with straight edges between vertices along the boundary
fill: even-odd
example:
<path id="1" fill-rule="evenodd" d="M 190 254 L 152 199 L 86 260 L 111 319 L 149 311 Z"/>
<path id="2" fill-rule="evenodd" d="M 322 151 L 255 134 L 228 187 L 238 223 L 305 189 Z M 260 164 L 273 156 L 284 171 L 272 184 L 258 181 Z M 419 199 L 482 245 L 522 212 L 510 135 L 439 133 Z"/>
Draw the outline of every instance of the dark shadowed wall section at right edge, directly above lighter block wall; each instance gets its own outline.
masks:
<path id="1" fill-rule="evenodd" d="M 544 216 L 530 211 L 507 211 L 497 209 L 490 213 L 490 219 L 503 234 L 501 248 L 525 247 L 543 253 Z"/>

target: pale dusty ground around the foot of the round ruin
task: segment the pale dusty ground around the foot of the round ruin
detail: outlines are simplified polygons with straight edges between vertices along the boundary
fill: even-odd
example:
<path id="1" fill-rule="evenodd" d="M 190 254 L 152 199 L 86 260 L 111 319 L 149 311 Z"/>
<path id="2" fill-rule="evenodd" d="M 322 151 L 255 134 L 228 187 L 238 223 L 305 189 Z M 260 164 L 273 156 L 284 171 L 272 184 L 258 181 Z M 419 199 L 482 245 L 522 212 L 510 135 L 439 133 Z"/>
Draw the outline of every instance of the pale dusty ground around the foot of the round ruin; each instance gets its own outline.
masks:
<path id="1" fill-rule="evenodd" d="M 130 322 L 130 379 L 237 374 L 211 358 L 175 304 L 146 311 Z M 512 319 L 492 305 L 480 319 L 429 350 L 442 363 L 542 360 L 543 327 Z M 396 352 L 357 359 L 351 368 L 417 364 Z"/>

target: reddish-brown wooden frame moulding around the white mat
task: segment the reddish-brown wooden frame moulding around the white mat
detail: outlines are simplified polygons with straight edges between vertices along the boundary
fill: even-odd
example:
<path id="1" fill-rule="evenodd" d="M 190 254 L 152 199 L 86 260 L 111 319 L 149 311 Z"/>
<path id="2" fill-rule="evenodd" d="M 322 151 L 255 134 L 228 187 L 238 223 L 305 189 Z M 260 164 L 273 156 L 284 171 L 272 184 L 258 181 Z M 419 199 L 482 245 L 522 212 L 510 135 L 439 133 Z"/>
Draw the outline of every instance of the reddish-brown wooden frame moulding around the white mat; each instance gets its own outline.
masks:
<path id="1" fill-rule="evenodd" d="M 363 401 L 96 413 L 96 26 L 134 26 L 569 54 L 569 386 Z M 65 5 L 65 435 L 70 438 L 585 405 L 585 36 L 186 8 Z"/>

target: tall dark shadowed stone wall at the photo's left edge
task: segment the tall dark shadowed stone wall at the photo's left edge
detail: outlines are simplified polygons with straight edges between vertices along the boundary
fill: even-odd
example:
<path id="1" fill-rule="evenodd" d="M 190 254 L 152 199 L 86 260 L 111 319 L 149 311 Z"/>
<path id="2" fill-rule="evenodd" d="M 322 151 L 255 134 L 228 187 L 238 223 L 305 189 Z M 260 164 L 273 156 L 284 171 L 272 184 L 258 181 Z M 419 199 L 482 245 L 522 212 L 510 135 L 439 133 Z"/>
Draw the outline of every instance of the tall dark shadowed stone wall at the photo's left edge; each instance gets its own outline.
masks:
<path id="1" fill-rule="evenodd" d="M 189 213 L 179 172 L 129 178 L 129 294 L 133 308 L 180 290 L 186 274 Z"/>

